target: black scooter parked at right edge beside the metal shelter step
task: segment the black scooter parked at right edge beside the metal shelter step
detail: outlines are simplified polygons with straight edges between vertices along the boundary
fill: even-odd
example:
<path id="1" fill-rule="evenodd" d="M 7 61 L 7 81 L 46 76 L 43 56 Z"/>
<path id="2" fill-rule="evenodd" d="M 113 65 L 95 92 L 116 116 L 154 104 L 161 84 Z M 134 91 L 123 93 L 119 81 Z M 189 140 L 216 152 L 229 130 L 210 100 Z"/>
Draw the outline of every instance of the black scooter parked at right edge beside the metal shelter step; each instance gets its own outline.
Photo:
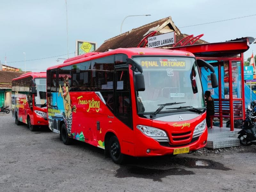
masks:
<path id="1" fill-rule="evenodd" d="M 242 123 L 242 130 L 238 132 L 238 139 L 242 145 L 256 145 L 256 124 L 254 119 L 256 116 L 253 116 L 255 111 L 248 106 L 246 110 L 246 118 Z"/>

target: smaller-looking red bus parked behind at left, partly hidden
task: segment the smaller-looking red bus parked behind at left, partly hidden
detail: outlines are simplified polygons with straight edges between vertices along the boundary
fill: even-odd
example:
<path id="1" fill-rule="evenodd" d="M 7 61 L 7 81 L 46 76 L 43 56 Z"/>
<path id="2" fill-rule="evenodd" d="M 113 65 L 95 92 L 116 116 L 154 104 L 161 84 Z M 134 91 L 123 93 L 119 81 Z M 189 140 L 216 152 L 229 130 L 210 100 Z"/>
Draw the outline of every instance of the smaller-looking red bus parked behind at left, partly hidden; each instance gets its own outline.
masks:
<path id="1" fill-rule="evenodd" d="M 30 131 L 48 125 L 45 72 L 26 73 L 12 79 L 12 116 L 17 125 L 23 122 Z"/>

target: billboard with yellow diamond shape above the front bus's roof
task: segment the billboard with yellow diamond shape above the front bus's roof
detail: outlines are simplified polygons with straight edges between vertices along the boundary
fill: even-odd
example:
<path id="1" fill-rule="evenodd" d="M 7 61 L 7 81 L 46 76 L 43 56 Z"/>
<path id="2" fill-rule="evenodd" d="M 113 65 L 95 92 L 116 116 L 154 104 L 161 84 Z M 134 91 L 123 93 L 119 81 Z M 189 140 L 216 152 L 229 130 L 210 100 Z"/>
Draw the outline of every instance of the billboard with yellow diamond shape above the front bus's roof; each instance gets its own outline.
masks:
<path id="1" fill-rule="evenodd" d="M 76 40 L 76 56 L 84 53 L 94 52 L 97 44 L 90 41 Z"/>

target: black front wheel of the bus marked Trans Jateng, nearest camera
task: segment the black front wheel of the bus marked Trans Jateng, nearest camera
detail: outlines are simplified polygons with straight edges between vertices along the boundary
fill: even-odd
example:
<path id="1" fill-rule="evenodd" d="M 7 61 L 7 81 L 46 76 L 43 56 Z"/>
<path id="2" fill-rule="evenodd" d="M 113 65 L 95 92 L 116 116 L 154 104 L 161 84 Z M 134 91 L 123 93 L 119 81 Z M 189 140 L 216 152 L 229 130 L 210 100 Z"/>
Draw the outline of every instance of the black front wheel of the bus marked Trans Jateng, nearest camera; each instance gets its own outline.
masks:
<path id="1" fill-rule="evenodd" d="M 114 163 L 122 164 L 124 154 L 121 153 L 120 143 L 115 135 L 113 135 L 109 140 L 109 153 Z"/>

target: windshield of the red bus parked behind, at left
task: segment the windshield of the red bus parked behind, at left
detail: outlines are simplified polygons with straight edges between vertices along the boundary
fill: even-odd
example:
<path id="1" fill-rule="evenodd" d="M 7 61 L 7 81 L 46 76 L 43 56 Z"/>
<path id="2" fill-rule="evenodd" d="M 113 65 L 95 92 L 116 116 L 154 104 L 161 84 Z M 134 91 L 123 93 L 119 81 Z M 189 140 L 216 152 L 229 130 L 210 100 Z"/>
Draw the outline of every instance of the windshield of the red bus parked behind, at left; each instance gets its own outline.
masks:
<path id="1" fill-rule="evenodd" d="M 35 105 L 42 105 L 46 103 L 46 78 L 36 78 Z"/>

